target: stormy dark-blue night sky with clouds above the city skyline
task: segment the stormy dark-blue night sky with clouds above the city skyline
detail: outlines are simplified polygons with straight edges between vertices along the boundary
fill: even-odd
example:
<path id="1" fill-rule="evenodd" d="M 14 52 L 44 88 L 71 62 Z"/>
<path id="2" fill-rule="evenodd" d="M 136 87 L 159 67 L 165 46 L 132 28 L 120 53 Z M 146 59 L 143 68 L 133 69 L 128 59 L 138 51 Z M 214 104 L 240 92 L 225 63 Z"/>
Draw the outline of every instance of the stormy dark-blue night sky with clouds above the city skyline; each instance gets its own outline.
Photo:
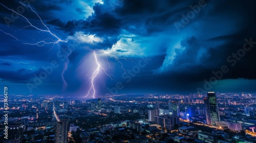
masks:
<path id="1" fill-rule="evenodd" d="M 254 1 L 0 2 L 10 93 L 256 91 Z"/>

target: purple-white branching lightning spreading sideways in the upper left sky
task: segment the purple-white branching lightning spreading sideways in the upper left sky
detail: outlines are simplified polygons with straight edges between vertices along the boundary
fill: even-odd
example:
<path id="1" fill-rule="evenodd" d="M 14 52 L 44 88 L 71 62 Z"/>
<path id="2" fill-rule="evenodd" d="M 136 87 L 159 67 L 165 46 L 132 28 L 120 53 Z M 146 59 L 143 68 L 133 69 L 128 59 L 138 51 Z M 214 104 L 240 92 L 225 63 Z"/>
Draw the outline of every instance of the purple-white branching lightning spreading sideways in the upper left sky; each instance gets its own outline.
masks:
<path id="1" fill-rule="evenodd" d="M 19 3 L 20 3 L 20 2 L 19 2 Z M 27 17 L 25 17 L 23 14 L 20 14 L 20 13 L 14 11 L 13 9 L 9 9 L 8 7 L 6 7 L 5 5 L 3 5 L 2 3 L 0 3 L 0 5 L 2 5 L 3 7 L 5 7 L 6 9 L 8 9 L 8 10 L 14 12 L 15 14 L 17 14 L 17 15 L 19 15 L 19 16 L 22 16 L 22 17 L 29 23 L 29 26 L 26 26 L 26 27 L 21 28 L 21 29 L 25 29 L 25 28 L 27 28 L 27 27 L 33 27 L 33 28 L 35 28 L 36 30 L 39 30 L 39 32 L 47 32 L 47 33 L 51 34 L 53 37 L 55 37 L 55 38 L 57 39 L 57 40 L 53 40 L 53 39 L 51 39 L 51 38 L 46 38 L 46 39 L 44 39 L 44 40 L 37 41 L 36 43 L 24 43 L 24 44 L 37 45 L 37 46 L 44 46 L 45 44 L 53 44 L 53 46 L 54 46 L 54 45 L 55 45 L 56 43 L 58 43 L 58 42 L 67 42 L 67 40 L 61 40 L 61 39 L 60 39 L 59 37 L 57 37 L 54 33 L 52 33 L 52 32 L 50 31 L 50 29 L 45 25 L 45 23 L 42 22 L 41 17 L 31 8 L 31 6 L 29 6 L 29 5 L 24 5 L 23 3 L 20 3 L 20 4 L 22 4 L 23 6 L 29 7 L 29 8 L 31 9 L 31 11 L 34 12 L 34 13 L 37 15 L 37 17 L 39 18 L 39 20 L 40 20 L 40 22 L 41 22 L 40 24 L 41 24 L 42 26 L 44 26 L 44 27 L 46 28 L 46 30 L 40 29 L 40 28 L 34 26 L 34 25 L 32 24 L 32 22 L 31 22 Z M 19 30 L 21 30 L 21 29 L 19 29 Z M 1 30 L 1 31 L 4 32 L 3 30 Z M 6 32 L 4 32 L 4 33 L 7 34 L 7 35 L 12 36 L 13 38 L 15 38 L 15 39 L 18 40 L 18 38 L 14 37 L 13 35 L 11 35 L 11 34 L 9 34 L 9 33 L 6 33 Z M 52 46 L 52 47 L 53 47 L 53 46 Z"/>

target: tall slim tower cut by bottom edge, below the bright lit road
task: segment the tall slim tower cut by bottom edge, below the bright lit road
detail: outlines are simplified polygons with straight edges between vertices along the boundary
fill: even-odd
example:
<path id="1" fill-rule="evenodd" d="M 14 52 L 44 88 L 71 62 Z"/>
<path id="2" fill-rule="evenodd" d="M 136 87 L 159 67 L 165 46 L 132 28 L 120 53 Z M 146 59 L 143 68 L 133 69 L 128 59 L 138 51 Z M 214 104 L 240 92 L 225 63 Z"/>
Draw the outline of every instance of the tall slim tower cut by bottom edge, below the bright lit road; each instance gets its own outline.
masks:
<path id="1" fill-rule="evenodd" d="M 54 143 L 67 143 L 68 142 L 68 130 L 69 118 L 60 118 L 60 122 L 56 123 Z"/>

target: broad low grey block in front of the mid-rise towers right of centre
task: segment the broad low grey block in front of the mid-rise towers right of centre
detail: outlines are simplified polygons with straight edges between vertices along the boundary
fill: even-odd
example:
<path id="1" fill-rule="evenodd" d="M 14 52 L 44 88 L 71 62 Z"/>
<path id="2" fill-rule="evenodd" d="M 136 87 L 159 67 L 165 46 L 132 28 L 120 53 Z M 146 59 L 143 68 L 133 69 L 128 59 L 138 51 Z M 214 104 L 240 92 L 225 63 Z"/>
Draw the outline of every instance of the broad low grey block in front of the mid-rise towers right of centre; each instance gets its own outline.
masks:
<path id="1" fill-rule="evenodd" d="M 155 116 L 155 122 L 167 130 L 172 130 L 175 125 L 174 117 L 172 115 Z"/>

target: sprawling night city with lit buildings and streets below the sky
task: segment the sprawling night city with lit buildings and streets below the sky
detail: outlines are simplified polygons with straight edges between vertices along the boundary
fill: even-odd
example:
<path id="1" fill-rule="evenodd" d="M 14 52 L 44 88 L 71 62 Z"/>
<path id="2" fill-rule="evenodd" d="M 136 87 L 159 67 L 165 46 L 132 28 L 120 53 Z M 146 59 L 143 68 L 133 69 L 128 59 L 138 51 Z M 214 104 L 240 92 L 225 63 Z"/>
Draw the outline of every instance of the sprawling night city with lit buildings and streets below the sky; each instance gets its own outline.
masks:
<path id="1" fill-rule="evenodd" d="M 9 96 L 4 142 L 256 142 L 256 94 Z M 2 112 L 2 127 L 6 117 Z M 1 140 L 5 130 L 1 128 Z"/>

